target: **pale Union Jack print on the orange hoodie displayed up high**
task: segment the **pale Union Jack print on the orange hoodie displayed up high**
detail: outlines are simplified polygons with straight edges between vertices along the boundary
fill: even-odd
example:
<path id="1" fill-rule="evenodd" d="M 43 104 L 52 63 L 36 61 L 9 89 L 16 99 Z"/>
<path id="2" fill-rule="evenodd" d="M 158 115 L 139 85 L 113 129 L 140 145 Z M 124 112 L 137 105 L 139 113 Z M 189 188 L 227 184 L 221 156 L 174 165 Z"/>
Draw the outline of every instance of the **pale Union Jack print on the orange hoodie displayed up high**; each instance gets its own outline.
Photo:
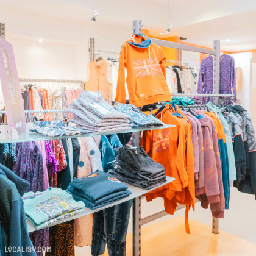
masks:
<path id="1" fill-rule="evenodd" d="M 162 69 L 155 57 L 132 60 L 132 63 L 135 77 L 162 75 Z"/>

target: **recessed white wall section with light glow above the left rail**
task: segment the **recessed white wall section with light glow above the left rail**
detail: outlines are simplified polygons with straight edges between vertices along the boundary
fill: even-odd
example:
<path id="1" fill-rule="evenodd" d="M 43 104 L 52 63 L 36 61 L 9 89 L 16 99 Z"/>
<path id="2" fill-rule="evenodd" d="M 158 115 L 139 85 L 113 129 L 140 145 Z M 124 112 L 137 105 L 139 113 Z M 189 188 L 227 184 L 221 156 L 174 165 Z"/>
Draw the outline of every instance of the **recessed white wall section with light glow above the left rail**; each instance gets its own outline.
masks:
<path id="1" fill-rule="evenodd" d="M 8 40 L 15 54 L 18 76 L 37 79 L 75 79 L 72 45 Z"/>

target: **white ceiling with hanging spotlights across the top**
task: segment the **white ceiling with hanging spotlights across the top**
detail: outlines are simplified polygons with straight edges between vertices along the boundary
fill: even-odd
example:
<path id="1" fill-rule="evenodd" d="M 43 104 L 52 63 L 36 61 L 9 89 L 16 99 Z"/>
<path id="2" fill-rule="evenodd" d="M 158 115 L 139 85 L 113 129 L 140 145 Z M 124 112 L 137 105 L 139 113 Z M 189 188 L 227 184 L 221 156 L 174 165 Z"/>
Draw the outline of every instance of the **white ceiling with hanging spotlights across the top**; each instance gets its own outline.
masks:
<path id="1" fill-rule="evenodd" d="M 168 26 L 168 0 L 96 0 L 97 23 L 130 29 L 132 20 L 141 19 L 143 28 L 158 37 L 177 35 L 209 47 L 214 39 L 231 38 L 236 41 L 222 43 L 223 50 L 256 49 L 255 0 L 169 1 L 171 34 L 160 35 Z M 79 23 L 90 22 L 93 15 L 93 0 L 0 0 L 0 12 L 1 6 Z"/>

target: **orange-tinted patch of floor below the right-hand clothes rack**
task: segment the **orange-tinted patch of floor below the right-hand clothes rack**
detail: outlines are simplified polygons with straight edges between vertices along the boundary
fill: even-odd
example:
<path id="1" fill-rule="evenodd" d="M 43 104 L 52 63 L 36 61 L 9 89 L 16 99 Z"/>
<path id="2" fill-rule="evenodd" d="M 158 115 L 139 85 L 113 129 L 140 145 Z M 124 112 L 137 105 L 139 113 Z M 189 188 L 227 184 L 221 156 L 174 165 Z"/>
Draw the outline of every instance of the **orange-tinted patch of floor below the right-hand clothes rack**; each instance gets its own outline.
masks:
<path id="1" fill-rule="evenodd" d="M 211 227 L 190 220 L 193 234 L 184 232 L 184 218 L 177 216 L 143 227 L 142 256 L 255 256 L 256 244 L 220 231 L 211 233 Z M 127 236 L 127 256 L 132 256 L 132 234 Z M 107 256 L 105 252 L 104 256 Z"/>

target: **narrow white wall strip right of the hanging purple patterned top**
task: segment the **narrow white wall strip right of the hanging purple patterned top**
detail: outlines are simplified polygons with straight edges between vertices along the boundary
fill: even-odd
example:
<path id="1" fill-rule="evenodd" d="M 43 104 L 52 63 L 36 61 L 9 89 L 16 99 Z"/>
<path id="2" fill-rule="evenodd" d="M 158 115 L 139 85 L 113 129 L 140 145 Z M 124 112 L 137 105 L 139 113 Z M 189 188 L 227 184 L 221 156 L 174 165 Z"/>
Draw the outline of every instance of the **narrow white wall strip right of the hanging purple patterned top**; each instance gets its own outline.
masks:
<path id="1" fill-rule="evenodd" d="M 248 112 L 251 112 L 251 59 L 252 52 L 230 54 L 235 59 L 235 66 L 242 68 L 242 88 L 237 92 L 238 104 L 242 105 Z"/>

